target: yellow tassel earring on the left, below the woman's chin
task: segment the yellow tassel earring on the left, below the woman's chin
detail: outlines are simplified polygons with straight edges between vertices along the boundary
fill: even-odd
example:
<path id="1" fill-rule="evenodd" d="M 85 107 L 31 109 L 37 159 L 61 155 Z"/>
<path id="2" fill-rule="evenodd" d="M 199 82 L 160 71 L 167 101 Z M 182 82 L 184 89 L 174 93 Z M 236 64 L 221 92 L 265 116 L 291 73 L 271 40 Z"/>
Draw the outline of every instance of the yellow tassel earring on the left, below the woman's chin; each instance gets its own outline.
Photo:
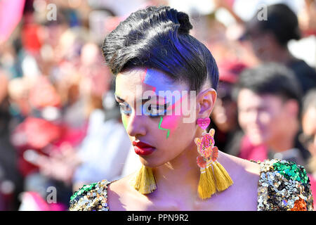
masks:
<path id="1" fill-rule="evenodd" d="M 133 186 L 139 193 L 148 194 L 157 189 L 152 168 L 142 165 L 136 176 L 131 180 Z"/>

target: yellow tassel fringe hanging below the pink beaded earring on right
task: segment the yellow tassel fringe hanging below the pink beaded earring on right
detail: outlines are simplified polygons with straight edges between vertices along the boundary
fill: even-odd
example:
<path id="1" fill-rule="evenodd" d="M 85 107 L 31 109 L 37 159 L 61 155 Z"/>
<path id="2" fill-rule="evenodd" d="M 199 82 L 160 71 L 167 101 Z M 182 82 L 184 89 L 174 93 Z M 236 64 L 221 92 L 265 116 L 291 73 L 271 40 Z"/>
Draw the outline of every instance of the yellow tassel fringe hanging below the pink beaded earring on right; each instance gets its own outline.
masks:
<path id="1" fill-rule="evenodd" d="M 210 198 L 217 191 L 224 191 L 233 184 L 230 175 L 219 162 L 211 162 L 201 168 L 197 192 L 202 200 Z"/>

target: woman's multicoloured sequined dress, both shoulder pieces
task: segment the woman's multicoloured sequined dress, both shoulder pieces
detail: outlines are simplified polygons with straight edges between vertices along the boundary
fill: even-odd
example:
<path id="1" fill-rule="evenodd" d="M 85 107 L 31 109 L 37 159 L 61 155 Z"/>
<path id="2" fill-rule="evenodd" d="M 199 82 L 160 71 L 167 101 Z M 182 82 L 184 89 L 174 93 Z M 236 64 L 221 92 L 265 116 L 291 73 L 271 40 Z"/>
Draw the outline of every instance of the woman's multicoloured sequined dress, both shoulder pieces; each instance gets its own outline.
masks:
<path id="1" fill-rule="evenodd" d="M 253 161 L 254 162 L 254 161 Z M 294 162 L 265 160 L 260 165 L 258 211 L 312 211 L 310 180 Z M 103 180 L 83 186 L 70 198 L 70 211 L 108 211 L 107 185 Z"/>

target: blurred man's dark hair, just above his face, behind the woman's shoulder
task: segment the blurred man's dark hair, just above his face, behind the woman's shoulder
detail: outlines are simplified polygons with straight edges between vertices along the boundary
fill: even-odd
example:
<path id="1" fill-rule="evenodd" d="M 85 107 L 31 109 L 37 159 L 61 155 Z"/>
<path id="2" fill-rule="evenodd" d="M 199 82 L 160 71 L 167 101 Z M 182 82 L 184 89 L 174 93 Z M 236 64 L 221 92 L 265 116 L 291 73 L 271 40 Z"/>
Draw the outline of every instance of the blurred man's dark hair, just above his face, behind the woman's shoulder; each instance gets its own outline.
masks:
<path id="1" fill-rule="evenodd" d="M 279 96 L 284 100 L 295 99 L 301 103 L 301 86 L 294 73 L 277 63 L 263 63 L 244 70 L 233 91 L 235 100 L 241 89 L 249 89 L 258 95 Z"/>

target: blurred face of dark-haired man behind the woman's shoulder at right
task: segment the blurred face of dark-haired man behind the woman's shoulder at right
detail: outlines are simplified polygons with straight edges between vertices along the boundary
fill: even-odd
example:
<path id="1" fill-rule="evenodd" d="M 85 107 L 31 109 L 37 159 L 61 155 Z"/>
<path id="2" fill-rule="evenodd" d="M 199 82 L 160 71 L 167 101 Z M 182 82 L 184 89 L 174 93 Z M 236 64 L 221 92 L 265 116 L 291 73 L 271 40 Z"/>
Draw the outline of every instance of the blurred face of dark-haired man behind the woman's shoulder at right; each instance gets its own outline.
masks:
<path id="1" fill-rule="evenodd" d="M 281 97 L 258 95 L 249 89 L 239 91 L 237 98 L 238 121 L 251 143 L 267 144 L 282 152 L 294 147 L 298 131 L 298 103 Z"/>

